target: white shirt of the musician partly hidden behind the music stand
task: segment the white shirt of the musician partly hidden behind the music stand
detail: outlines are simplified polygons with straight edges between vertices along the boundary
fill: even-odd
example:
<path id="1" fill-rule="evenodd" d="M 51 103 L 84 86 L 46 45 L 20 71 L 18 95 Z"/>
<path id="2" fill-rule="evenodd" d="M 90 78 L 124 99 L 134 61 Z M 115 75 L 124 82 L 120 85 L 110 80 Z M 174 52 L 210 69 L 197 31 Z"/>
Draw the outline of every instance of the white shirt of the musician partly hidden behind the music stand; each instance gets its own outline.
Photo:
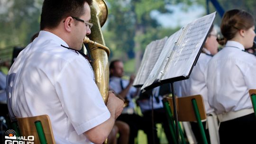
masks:
<path id="1" fill-rule="evenodd" d="M 203 49 L 206 53 L 201 53 L 196 65 L 193 67 L 193 70 L 190 74 L 189 79 L 175 82 L 175 85 L 180 86 L 181 94 L 178 96 L 192 96 L 201 94 L 204 100 L 204 106 L 207 114 L 210 114 L 214 111 L 213 108 L 210 107 L 208 103 L 208 94 L 207 94 L 207 87 L 206 87 L 206 69 L 208 62 L 212 58 L 210 56 L 210 52 L 207 49 Z M 175 86 L 177 88 L 177 86 Z"/>

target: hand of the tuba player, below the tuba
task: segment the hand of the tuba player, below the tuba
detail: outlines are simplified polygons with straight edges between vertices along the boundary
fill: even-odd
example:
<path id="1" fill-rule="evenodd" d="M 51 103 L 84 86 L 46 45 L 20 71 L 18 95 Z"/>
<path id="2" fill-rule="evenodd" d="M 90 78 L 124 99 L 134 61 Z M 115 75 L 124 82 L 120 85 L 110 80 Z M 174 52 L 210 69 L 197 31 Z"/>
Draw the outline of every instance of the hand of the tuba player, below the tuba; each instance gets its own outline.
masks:
<path id="1" fill-rule="evenodd" d="M 111 113 L 111 117 L 114 116 L 115 119 L 121 114 L 123 110 L 124 102 L 115 96 L 113 92 L 109 92 L 109 99 L 107 103 L 107 108 Z"/>

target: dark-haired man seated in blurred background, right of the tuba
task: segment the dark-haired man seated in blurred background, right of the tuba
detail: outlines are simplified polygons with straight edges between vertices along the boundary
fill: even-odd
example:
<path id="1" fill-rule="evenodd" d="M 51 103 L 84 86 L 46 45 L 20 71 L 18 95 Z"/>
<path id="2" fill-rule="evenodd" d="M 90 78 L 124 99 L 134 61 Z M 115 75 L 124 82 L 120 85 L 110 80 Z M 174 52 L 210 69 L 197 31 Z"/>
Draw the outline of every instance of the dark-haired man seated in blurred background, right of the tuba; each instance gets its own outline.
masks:
<path id="1" fill-rule="evenodd" d="M 123 62 L 120 60 L 114 60 L 110 63 L 110 90 L 114 90 L 119 97 L 126 99 L 127 105 L 122 111 L 122 114 L 117 120 L 126 122 L 130 127 L 129 144 L 134 144 L 134 138 L 137 136 L 139 129 L 144 130 L 147 134 L 148 143 L 152 143 L 150 139 L 150 121 L 139 116 L 135 112 L 135 103 L 133 98 L 137 96 L 138 89 L 132 86 L 134 76 L 130 77 L 130 80 L 122 79 L 124 75 Z"/>

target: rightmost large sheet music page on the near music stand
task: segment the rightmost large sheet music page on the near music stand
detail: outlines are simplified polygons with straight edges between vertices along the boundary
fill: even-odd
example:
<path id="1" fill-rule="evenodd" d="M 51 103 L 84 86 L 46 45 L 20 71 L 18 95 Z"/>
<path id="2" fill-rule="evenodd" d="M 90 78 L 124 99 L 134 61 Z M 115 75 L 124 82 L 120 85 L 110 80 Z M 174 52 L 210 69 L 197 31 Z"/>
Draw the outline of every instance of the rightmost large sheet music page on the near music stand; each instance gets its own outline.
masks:
<path id="1" fill-rule="evenodd" d="M 183 35 L 177 42 L 177 47 L 174 53 L 172 53 L 170 61 L 165 67 L 166 69 L 161 80 L 188 76 L 204 39 L 208 35 L 215 15 L 215 13 L 212 13 L 196 19 L 186 26 Z M 175 71 L 169 71 L 169 69 L 174 69 Z"/>

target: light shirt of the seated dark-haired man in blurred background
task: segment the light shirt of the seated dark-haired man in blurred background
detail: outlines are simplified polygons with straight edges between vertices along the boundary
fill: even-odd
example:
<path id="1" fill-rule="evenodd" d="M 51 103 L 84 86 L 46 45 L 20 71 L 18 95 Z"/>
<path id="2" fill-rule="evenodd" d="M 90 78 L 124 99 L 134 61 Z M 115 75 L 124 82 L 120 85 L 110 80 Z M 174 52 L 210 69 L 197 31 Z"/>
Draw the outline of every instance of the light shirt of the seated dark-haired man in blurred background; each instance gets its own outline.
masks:
<path id="1" fill-rule="evenodd" d="M 119 77 L 112 76 L 110 77 L 110 89 L 114 90 L 116 93 L 120 93 L 122 91 L 120 81 L 122 81 L 123 89 L 125 89 L 129 84 L 128 80 L 124 80 Z M 132 108 L 132 109 L 135 108 L 135 104 L 132 101 L 132 99 L 133 99 L 133 96 L 136 95 L 136 92 L 137 92 L 137 89 L 135 87 L 130 87 L 126 96 L 126 98 L 129 100 L 129 104 L 128 104 L 128 107 L 125 107 L 123 109 L 122 113 L 129 113 L 129 110 L 128 110 L 129 108 Z"/>

